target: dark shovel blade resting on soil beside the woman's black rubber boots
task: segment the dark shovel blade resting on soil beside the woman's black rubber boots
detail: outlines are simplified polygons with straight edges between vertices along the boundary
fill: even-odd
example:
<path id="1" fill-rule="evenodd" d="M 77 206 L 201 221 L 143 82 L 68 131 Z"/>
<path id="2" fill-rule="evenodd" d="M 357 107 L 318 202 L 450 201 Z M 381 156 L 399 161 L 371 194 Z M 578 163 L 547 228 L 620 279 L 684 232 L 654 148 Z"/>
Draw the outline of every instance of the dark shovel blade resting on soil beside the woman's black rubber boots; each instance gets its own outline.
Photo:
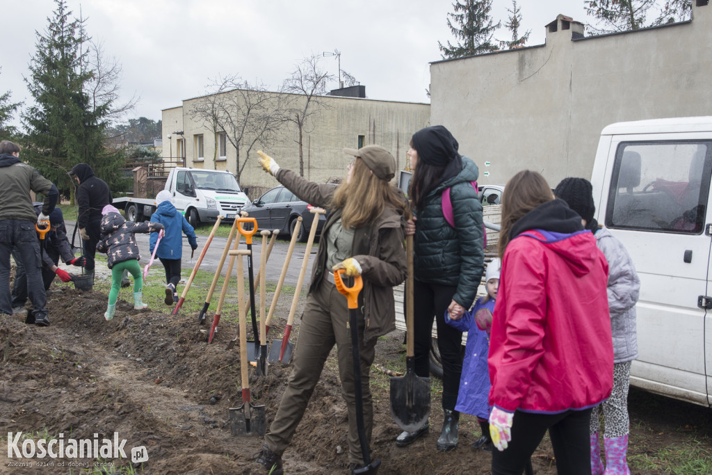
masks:
<path id="1" fill-rule="evenodd" d="M 405 376 L 391 377 L 391 415 L 404 431 L 423 427 L 430 415 L 430 378 L 410 368 Z"/>

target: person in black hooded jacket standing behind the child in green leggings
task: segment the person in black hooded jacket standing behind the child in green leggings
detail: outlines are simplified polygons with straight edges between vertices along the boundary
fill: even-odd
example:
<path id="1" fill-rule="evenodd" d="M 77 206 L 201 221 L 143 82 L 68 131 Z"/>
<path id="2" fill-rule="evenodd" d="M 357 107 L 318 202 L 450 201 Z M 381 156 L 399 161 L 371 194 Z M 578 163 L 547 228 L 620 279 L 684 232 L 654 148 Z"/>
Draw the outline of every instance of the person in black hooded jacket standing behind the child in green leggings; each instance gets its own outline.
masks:
<path id="1" fill-rule="evenodd" d="M 85 268 L 87 273 L 93 274 L 96 244 L 101 234 L 101 210 L 111 204 L 111 192 L 108 184 L 95 177 L 94 170 L 85 163 L 75 165 L 69 174 L 79 183 L 75 195 L 79 207 L 77 226 L 84 245 Z"/>

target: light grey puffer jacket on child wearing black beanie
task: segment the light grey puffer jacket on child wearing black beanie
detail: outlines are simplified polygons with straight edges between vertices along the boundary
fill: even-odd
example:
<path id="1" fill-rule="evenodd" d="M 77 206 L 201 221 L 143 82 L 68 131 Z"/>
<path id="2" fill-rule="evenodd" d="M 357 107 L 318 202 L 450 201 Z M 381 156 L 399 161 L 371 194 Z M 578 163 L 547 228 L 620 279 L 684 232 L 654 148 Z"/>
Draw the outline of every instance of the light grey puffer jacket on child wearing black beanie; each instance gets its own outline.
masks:
<path id="1" fill-rule="evenodd" d="M 613 362 L 638 357 L 635 304 L 640 294 L 640 279 L 633 261 L 621 241 L 606 228 L 596 231 L 596 244 L 608 261 L 608 310 L 613 333 Z"/>

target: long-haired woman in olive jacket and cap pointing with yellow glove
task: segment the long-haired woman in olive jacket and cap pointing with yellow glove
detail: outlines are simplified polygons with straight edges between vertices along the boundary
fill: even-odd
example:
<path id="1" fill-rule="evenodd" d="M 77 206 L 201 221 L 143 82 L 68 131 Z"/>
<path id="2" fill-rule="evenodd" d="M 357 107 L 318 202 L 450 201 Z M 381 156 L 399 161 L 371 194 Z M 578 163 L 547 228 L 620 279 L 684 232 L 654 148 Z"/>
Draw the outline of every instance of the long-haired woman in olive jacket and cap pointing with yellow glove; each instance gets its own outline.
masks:
<path id="1" fill-rule="evenodd" d="M 281 456 L 303 417 L 324 362 L 337 345 L 342 396 L 349 422 L 349 463 L 351 470 L 363 466 L 356 424 L 351 338 L 348 333 L 346 298 L 334 285 L 332 270 L 345 268 L 347 276 L 361 275 L 359 328 L 362 341 L 363 417 L 370 443 L 373 404 L 369 372 L 375 357 L 377 338 L 395 329 L 393 287 L 404 281 L 407 263 L 404 243 L 407 201 L 390 180 L 394 177 L 394 157 L 379 145 L 359 150 L 344 149 L 354 158 L 348 165 L 345 183 L 339 187 L 309 182 L 295 172 L 280 168 L 263 152 L 262 167 L 290 192 L 305 202 L 330 209 L 324 225 L 317 259 L 313 266 L 309 293 L 302 313 L 293 370 L 283 393 L 257 462 L 272 474 L 282 473 Z M 315 218 L 316 219 L 316 218 Z"/>

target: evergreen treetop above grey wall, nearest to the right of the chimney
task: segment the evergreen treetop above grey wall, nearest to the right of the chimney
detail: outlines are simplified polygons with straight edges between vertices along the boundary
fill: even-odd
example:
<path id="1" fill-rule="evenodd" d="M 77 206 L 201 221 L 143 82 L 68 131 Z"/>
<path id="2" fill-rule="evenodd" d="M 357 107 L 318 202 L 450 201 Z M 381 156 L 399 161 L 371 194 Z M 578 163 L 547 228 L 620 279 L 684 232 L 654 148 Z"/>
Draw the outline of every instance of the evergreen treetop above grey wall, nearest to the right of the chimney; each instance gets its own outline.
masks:
<path id="1" fill-rule="evenodd" d="M 597 21 L 597 26 L 588 24 L 587 30 L 602 34 L 651 26 L 646 24 L 646 16 L 656 3 L 657 0 L 585 0 L 586 14 Z"/>

